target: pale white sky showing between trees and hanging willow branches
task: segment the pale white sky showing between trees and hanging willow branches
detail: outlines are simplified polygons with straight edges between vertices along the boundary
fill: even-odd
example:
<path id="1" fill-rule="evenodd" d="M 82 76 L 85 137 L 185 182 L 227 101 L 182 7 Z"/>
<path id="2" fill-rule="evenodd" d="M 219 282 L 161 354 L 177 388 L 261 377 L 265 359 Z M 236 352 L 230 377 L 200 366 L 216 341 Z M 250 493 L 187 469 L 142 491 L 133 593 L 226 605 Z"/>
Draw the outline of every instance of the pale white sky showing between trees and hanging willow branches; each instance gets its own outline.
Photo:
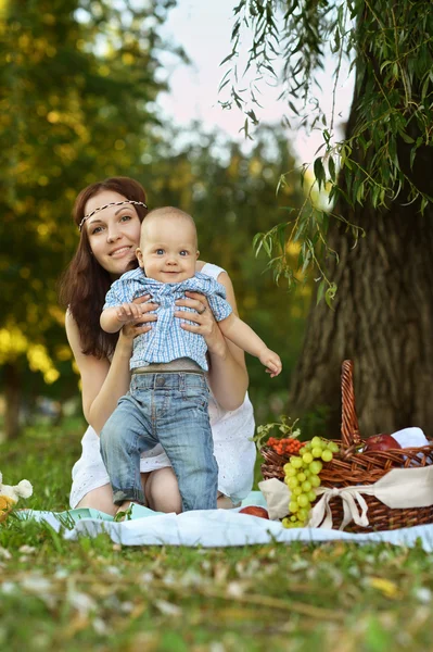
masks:
<path id="1" fill-rule="evenodd" d="M 164 25 L 163 36 L 174 45 L 181 46 L 191 60 L 191 65 L 180 63 L 174 57 L 164 61 L 164 72 L 170 91 L 162 93 L 158 105 L 162 112 L 178 126 L 188 126 L 199 120 L 204 127 L 218 127 L 231 138 L 244 140 L 240 129 L 244 115 L 238 109 L 224 110 L 218 103 L 218 86 L 226 67 L 220 62 L 230 53 L 230 35 L 233 26 L 233 7 L 235 0 L 178 0 L 170 10 Z M 246 46 L 243 48 L 244 55 Z M 242 54 L 241 54 L 242 57 Z M 328 61 L 324 74 L 319 78 L 322 92 L 319 100 L 322 109 L 330 115 L 332 108 L 332 66 Z M 335 124 L 343 124 L 351 106 L 353 80 L 347 77 L 347 68 L 342 71 L 335 98 Z M 280 123 L 285 104 L 278 102 L 279 90 L 262 86 L 263 109 L 255 109 L 257 117 L 266 123 Z M 340 133 L 341 134 L 341 133 Z M 336 133 L 338 137 L 340 136 Z M 297 131 L 289 135 L 300 162 L 311 162 L 317 148 L 323 142 L 319 130 L 311 134 Z"/>

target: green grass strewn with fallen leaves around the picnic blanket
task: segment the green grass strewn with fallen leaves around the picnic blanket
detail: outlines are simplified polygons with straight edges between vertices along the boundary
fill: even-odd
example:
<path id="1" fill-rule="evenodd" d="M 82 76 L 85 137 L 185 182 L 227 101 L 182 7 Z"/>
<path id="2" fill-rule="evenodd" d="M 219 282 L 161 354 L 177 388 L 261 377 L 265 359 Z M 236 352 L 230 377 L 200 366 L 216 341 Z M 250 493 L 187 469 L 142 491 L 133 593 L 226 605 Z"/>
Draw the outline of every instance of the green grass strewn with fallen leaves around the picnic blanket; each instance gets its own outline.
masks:
<path id="1" fill-rule="evenodd" d="M 34 485 L 26 506 L 67 507 L 81 432 L 69 421 L 0 446 L 4 481 Z M 0 525 L 0 650 L 430 651 L 431 566 L 420 547 L 66 541 L 12 514 Z"/>

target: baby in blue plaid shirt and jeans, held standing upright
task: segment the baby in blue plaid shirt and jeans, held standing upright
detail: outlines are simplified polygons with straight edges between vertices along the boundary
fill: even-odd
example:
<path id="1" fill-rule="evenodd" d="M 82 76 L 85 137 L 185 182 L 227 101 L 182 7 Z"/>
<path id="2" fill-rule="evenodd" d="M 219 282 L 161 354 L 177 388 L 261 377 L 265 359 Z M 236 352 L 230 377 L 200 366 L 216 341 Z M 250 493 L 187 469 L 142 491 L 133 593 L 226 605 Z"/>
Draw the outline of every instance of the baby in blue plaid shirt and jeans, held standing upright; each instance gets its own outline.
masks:
<path id="1" fill-rule="evenodd" d="M 189 308 L 175 304 L 186 291 L 201 292 L 225 337 L 257 356 L 271 377 L 281 372 L 280 358 L 237 315 L 222 285 L 195 272 L 199 256 L 195 224 L 171 206 L 151 211 L 141 226 L 139 267 L 114 281 L 101 314 L 101 327 L 116 333 L 141 317 L 133 299 L 151 294 L 158 303 L 157 322 L 133 340 L 130 390 L 122 397 L 101 431 L 101 454 L 114 503 L 120 510 L 144 503 L 140 455 L 163 446 L 179 484 L 182 510 L 216 507 L 218 467 L 213 453 L 207 412 L 206 342 L 181 328 L 174 316 Z"/>

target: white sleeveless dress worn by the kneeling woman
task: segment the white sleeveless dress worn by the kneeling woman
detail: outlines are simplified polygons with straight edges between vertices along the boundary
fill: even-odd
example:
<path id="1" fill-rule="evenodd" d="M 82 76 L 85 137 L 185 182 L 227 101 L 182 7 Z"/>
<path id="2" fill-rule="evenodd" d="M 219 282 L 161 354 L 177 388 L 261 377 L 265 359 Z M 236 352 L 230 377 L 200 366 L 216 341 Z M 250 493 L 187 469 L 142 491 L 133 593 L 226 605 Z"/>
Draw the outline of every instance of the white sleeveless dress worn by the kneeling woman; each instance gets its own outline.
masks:
<path id="1" fill-rule="evenodd" d="M 201 272 L 217 279 L 224 269 L 206 263 Z M 255 444 L 250 440 L 254 435 L 255 424 L 249 396 L 245 394 L 245 400 L 238 410 L 225 412 L 211 394 L 209 417 L 214 454 L 218 463 L 218 490 L 237 504 L 252 489 L 256 459 Z M 72 472 L 73 485 L 69 497 L 72 509 L 76 507 L 89 491 L 110 484 L 100 453 L 100 439 L 91 426 L 87 428 L 81 446 L 81 456 Z M 161 444 L 141 456 L 141 473 L 165 466 L 170 466 L 170 463 Z"/>

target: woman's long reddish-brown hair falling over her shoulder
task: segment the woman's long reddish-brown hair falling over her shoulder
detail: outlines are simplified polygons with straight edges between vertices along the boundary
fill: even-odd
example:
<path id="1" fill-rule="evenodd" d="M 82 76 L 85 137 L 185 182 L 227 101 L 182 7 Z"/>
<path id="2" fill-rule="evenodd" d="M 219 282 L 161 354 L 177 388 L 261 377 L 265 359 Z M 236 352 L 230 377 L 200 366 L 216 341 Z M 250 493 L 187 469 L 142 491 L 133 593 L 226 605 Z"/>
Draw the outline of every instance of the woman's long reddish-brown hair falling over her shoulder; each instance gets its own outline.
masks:
<path id="1" fill-rule="evenodd" d="M 91 184 L 81 190 L 75 201 L 73 217 L 77 228 L 85 216 L 88 200 L 103 190 L 113 190 L 125 199 L 147 203 L 143 187 L 129 177 L 111 177 Z M 148 209 L 135 205 L 133 209 L 142 222 Z M 104 333 L 99 323 L 105 294 L 112 281 L 109 272 L 94 260 L 84 226 L 77 251 L 60 280 L 59 298 L 77 323 L 82 353 L 86 355 L 109 358 L 116 346 L 118 334 Z"/>

